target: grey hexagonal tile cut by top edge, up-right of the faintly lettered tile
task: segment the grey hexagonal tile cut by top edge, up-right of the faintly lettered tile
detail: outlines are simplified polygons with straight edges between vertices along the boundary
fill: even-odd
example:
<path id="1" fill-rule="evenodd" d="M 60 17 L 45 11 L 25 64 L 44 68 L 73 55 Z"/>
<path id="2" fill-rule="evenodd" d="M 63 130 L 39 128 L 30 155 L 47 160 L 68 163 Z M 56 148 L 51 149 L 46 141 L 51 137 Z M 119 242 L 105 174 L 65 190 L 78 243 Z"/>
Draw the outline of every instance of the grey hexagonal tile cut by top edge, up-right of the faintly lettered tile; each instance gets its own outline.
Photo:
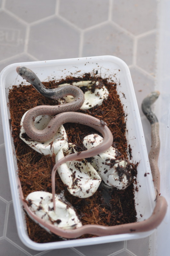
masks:
<path id="1" fill-rule="evenodd" d="M 27 22 L 33 22 L 55 13 L 56 0 L 6 0 L 5 8 Z"/>

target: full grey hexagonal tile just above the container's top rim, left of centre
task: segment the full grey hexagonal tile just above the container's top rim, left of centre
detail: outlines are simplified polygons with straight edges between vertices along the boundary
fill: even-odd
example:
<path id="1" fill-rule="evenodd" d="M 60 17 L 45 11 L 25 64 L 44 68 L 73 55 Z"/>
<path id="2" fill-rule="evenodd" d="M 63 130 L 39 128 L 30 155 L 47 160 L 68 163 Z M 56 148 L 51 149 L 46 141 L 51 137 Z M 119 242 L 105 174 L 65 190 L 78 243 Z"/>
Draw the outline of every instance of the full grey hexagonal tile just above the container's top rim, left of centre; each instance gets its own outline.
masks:
<path id="1" fill-rule="evenodd" d="M 39 60 L 78 56 L 79 32 L 58 18 L 30 28 L 28 52 Z"/>

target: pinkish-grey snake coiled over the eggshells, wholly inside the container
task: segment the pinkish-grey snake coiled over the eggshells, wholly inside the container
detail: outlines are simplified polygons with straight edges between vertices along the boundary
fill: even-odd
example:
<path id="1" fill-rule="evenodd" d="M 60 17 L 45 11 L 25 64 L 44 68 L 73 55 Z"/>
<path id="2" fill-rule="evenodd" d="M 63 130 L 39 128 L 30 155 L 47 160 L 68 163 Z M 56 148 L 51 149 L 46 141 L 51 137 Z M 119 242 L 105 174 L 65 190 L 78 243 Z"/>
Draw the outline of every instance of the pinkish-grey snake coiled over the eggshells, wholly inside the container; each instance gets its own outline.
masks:
<path id="1" fill-rule="evenodd" d="M 52 193 L 54 202 L 55 173 L 58 166 L 65 163 L 66 161 L 73 161 L 78 160 L 80 158 L 93 157 L 106 151 L 113 143 L 113 136 L 111 131 L 107 127 L 107 124 L 102 120 L 99 120 L 87 114 L 72 112 L 80 109 L 84 102 L 84 94 L 80 88 L 69 85 L 58 87 L 55 89 L 47 89 L 44 87 L 44 85 L 41 83 L 39 78 L 32 70 L 29 70 L 26 67 L 17 67 L 16 70 L 22 78 L 26 79 L 29 83 L 31 83 L 36 88 L 36 90 L 38 90 L 45 97 L 59 99 L 67 95 L 74 96 L 74 101 L 70 103 L 55 106 L 41 105 L 29 110 L 23 120 L 23 127 L 25 129 L 26 134 L 31 139 L 39 142 L 44 142 L 48 139 L 51 139 L 56 134 L 59 127 L 66 122 L 80 123 L 90 126 L 99 131 L 104 138 L 103 142 L 100 145 L 93 147 L 89 150 L 85 150 L 83 152 L 67 155 L 54 165 L 52 170 Z M 55 115 L 50 120 L 47 127 L 43 130 L 38 130 L 34 126 L 35 118 L 40 115 Z"/>

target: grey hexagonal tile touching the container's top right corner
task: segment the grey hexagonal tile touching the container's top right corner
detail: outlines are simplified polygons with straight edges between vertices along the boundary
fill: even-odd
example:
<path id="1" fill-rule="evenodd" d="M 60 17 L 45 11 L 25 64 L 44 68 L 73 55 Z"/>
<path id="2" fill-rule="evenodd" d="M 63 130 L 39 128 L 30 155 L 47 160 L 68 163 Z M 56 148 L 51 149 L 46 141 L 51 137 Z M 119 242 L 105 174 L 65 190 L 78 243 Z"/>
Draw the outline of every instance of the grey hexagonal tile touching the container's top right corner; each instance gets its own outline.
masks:
<path id="1" fill-rule="evenodd" d="M 115 55 L 132 64 L 133 38 L 108 23 L 85 32 L 83 56 Z"/>

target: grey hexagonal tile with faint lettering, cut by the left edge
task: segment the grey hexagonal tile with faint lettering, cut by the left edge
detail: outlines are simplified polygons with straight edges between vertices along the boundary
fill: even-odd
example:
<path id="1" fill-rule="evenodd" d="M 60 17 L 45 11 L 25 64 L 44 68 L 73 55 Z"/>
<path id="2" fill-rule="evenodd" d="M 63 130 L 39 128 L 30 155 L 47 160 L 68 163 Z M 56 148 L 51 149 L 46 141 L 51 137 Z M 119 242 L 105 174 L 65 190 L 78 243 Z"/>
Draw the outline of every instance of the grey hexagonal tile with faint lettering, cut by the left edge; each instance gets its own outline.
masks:
<path id="1" fill-rule="evenodd" d="M 26 26 L 3 11 L 0 11 L 0 24 L 0 60 L 22 53 Z"/>

